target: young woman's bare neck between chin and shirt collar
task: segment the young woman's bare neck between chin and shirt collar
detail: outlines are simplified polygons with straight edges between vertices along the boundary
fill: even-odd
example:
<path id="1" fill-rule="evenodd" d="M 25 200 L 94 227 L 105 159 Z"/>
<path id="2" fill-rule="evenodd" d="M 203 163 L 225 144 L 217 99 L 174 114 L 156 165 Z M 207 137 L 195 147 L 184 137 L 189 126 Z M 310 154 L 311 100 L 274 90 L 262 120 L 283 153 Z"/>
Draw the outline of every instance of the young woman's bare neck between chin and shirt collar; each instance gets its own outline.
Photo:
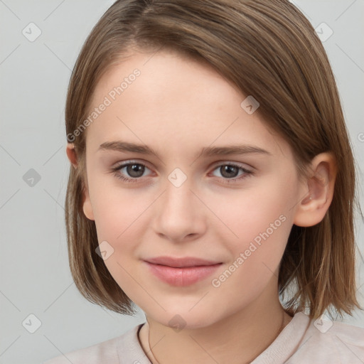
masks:
<path id="1" fill-rule="evenodd" d="M 139 333 L 141 346 L 152 364 L 250 363 L 291 321 L 277 292 L 273 301 L 267 295 L 264 291 L 241 311 L 202 328 L 176 332 L 149 317 Z"/>

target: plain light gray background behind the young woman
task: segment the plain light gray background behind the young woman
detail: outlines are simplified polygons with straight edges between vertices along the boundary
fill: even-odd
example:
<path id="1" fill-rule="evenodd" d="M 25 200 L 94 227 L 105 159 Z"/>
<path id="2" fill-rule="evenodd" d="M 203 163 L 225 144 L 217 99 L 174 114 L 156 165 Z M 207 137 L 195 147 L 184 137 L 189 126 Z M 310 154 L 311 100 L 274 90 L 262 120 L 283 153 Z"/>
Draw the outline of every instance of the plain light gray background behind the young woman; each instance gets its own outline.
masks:
<path id="1" fill-rule="evenodd" d="M 65 241 L 65 95 L 82 43 L 112 3 L 0 0 L 1 364 L 41 363 L 144 322 L 141 311 L 135 317 L 121 316 L 83 299 L 70 275 Z M 333 30 L 323 45 L 336 76 L 362 186 L 364 1 L 294 4 L 314 28 L 324 22 Z M 22 34 L 31 22 L 42 32 L 33 42 Z M 41 177 L 33 187 L 23 180 L 31 168 Z M 360 220 L 356 235 L 363 254 Z M 357 271 L 358 299 L 364 306 L 364 264 L 358 264 Z M 41 321 L 35 333 L 22 325 L 29 314 Z M 355 311 L 344 321 L 364 327 L 364 314 Z"/>

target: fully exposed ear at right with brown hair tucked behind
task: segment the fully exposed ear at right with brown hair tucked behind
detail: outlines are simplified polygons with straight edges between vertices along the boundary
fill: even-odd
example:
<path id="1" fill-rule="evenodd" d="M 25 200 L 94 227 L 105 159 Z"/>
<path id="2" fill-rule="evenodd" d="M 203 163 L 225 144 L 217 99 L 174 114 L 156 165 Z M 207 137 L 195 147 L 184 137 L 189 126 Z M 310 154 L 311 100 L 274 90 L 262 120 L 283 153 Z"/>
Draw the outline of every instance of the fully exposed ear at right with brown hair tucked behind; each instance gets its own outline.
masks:
<path id="1" fill-rule="evenodd" d="M 299 202 L 294 215 L 293 223 L 297 226 L 308 227 L 320 223 L 333 200 L 337 174 L 333 154 L 327 152 L 315 156 L 311 161 L 311 171 L 302 193 L 306 193 L 306 197 Z"/>

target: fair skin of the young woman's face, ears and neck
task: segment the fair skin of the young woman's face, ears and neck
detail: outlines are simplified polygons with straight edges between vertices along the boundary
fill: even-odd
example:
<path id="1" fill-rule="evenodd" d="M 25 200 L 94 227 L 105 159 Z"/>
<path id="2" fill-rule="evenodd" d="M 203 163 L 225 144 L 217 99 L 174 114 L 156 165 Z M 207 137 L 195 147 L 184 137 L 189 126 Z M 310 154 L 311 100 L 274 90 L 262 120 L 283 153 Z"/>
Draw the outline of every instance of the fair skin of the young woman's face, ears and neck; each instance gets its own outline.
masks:
<path id="1" fill-rule="evenodd" d="M 258 112 L 247 114 L 240 107 L 246 96 L 236 87 L 208 65 L 176 53 L 150 57 L 134 53 L 97 84 L 90 109 L 135 68 L 141 70 L 87 127 L 83 210 L 95 220 L 99 242 L 114 249 L 105 260 L 110 274 L 146 314 L 140 340 L 146 352 L 150 342 L 151 363 L 249 363 L 291 320 L 279 303 L 279 262 L 293 224 L 311 226 L 323 219 L 336 167 L 331 154 L 319 154 L 311 178 L 299 182 L 289 144 L 267 129 Z M 107 141 L 146 144 L 158 156 L 100 150 Z M 196 159 L 203 147 L 232 144 L 270 154 Z M 77 168 L 73 144 L 67 154 Z M 146 166 L 144 172 L 137 176 L 122 168 L 117 175 L 137 181 L 122 181 L 111 171 L 128 161 Z M 252 173 L 235 168 L 228 178 L 220 168 L 226 163 Z M 179 187 L 168 180 L 175 168 L 187 177 Z M 282 215 L 284 222 L 262 245 L 213 287 L 212 279 Z M 175 287 L 150 274 L 143 262 L 161 255 L 222 264 L 213 276 Z M 186 325 L 178 332 L 168 324 L 177 314 Z"/>

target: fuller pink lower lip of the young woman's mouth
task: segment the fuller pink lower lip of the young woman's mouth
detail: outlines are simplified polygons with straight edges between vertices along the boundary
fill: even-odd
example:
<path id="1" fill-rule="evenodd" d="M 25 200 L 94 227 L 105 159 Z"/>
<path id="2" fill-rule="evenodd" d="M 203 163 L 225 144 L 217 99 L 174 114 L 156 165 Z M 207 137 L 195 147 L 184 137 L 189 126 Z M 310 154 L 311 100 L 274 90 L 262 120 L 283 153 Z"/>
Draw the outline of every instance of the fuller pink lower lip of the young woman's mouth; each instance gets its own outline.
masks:
<path id="1" fill-rule="evenodd" d="M 166 265 L 152 264 L 146 262 L 151 272 L 162 281 L 172 286 L 190 286 L 204 279 L 218 269 L 222 263 L 213 265 L 201 265 L 198 267 L 174 268 Z"/>

